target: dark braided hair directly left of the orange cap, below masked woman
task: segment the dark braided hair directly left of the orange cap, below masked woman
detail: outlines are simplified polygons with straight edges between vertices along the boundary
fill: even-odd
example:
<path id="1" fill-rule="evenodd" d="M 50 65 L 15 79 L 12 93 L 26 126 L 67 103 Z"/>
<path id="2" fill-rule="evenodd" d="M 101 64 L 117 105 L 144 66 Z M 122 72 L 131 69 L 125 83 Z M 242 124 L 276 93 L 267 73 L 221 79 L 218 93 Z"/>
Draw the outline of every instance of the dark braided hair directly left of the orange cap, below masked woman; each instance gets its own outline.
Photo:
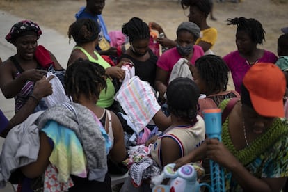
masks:
<path id="1" fill-rule="evenodd" d="M 206 95 L 219 93 L 227 89 L 228 67 L 225 61 L 216 55 L 206 55 L 195 61 L 195 67 L 207 86 Z"/>

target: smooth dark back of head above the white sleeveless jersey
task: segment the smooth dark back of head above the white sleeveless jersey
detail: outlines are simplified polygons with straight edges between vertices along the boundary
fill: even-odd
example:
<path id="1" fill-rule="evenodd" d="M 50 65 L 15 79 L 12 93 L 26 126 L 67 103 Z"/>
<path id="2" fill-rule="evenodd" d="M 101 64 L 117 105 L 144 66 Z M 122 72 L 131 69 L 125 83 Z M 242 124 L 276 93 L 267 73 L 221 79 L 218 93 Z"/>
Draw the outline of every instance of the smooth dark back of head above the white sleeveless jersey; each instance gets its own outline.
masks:
<path id="1" fill-rule="evenodd" d="M 170 113 L 179 118 L 196 120 L 200 90 L 192 79 L 174 79 L 168 84 L 166 95 Z"/>

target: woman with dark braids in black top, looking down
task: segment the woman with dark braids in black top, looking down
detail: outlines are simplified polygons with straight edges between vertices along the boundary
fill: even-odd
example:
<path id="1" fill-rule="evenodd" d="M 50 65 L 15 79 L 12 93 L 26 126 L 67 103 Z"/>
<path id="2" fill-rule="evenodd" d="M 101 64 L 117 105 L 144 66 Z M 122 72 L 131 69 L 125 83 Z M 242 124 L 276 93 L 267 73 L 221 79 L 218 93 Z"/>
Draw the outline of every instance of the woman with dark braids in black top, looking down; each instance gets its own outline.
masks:
<path id="1" fill-rule="evenodd" d="M 132 62 L 135 75 L 154 87 L 157 56 L 149 48 L 149 27 L 138 17 L 133 17 L 122 25 L 122 33 L 129 38 L 130 47 L 122 54 L 120 61 Z"/>

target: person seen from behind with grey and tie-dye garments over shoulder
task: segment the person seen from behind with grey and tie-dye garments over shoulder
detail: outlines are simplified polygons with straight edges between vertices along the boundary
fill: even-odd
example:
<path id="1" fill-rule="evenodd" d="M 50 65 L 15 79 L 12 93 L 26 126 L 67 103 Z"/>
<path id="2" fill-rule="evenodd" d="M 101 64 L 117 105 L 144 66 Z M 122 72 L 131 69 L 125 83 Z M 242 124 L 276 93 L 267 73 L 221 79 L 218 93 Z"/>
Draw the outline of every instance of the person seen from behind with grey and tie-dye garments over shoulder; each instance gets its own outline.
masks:
<path id="1" fill-rule="evenodd" d="M 40 177 L 53 165 L 59 170 L 56 178 L 70 176 L 65 177 L 68 186 L 65 179 L 61 181 L 68 191 L 111 191 L 106 160 L 120 163 L 126 149 L 120 120 L 112 111 L 95 105 L 107 87 L 106 78 L 101 65 L 82 58 L 67 67 L 65 91 L 73 102 L 52 106 L 38 118 L 40 151 L 35 162 L 21 168 L 26 177 Z"/>

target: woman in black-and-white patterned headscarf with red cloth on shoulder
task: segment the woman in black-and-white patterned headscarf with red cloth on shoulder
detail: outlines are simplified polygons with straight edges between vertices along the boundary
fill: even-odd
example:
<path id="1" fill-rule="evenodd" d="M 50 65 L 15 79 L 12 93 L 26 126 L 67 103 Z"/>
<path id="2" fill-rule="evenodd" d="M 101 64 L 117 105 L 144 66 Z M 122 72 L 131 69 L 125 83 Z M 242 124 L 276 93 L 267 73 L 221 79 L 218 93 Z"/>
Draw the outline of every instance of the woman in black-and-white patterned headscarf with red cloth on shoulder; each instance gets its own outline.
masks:
<path id="1" fill-rule="evenodd" d="M 15 97 L 15 113 L 29 97 L 40 102 L 40 108 L 35 111 L 45 109 L 45 103 L 40 101 L 43 95 L 33 95 L 33 86 L 47 74 L 51 65 L 55 70 L 63 70 L 50 51 L 38 46 L 41 34 L 38 24 L 24 20 L 14 24 L 6 35 L 6 40 L 16 47 L 17 54 L 0 65 L 0 88 L 7 99 Z"/>

